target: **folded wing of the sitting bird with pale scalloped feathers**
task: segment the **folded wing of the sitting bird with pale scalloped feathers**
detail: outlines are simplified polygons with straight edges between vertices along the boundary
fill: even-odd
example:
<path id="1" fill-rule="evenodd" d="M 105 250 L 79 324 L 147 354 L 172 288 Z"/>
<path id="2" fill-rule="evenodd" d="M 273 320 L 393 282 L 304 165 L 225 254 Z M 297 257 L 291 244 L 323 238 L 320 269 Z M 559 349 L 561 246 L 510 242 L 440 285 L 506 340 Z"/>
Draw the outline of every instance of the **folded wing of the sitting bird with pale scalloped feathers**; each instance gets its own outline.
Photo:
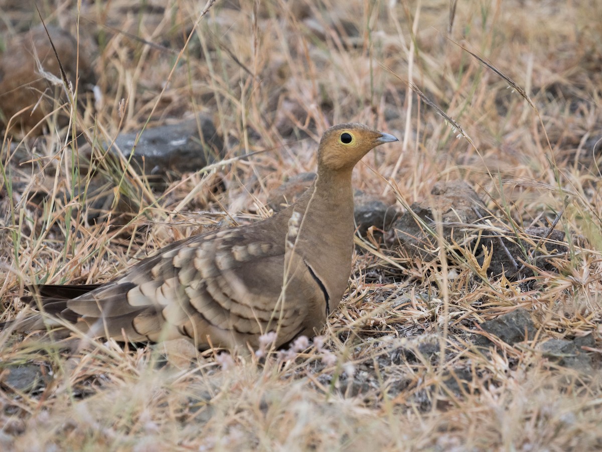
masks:
<path id="1" fill-rule="evenodd" d="M 294 269 L 283 300 L 285 236 L 269 222 L 258 226 L 183 240 L 67 300 L 61 315 L 93 336 L 125 332 L 131 341 L 184 336 L 200 348 L 257 345 L 278 327 L 279 342 L 287 342 L 304 330 L 311 301 L 323 292 L 306 270 Z"/>

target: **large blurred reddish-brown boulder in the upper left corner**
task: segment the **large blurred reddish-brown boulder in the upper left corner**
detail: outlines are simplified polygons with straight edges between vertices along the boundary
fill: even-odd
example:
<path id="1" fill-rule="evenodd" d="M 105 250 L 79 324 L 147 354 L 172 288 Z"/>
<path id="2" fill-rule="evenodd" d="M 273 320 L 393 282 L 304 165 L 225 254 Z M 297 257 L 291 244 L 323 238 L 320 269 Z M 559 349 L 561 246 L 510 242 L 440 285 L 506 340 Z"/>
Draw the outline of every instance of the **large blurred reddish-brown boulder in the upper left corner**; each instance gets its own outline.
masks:
<path id="1" fill-rule="evenodd" d="M 85 46 L 79 48 L 78 42 L 67 31 L 48 26 L 58 57 L 63 64 L 67 80 L 75 89 L 76 77 L 79 77 L 78 90 L 81 93 L 90 89 L 96 82 L 92 71 L 91 52 Z M 0 56 L 0 124 L 13 133 L 27 133 L 34 130 L 42 133 L 44 118 L 63 103 L 65 95 L 63 84 L 53 85 L 40 75 L 36 58 L 40 60 L 44 71 L 61 80 L 57 58 L 42 26 L 28 33 L 9 39 L 7 50 Z M 78 65 L 79 61 L 79 67 Z M 61 100 L 55 102 L 55 96 Z M 20 110 L 23 110 L 19 113 Z M 19 113 L 17 115 L 17 113 Z M 14 115 L 17 115 L 13 118 Z M 59 127 L 69 124 L 69 117 L 61 112 L 58 116 Z"/>

